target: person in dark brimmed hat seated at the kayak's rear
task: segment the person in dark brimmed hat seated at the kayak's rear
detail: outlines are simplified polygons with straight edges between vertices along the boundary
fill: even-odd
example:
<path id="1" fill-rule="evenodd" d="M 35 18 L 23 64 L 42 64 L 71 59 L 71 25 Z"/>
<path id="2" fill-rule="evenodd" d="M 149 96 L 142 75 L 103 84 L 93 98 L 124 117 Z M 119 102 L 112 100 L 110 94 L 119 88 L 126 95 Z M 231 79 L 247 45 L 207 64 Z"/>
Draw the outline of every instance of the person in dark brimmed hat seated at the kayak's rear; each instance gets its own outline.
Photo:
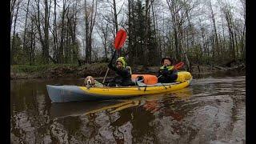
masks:
<path id="1" fill-rule="evenodd" d="M 162 58 L 161 64 L 162 66 L 158 70 L 158 82 L 175 82 L 178 78 L 178 71 L 174 70 L 172 60 L 170 58 Z"/>

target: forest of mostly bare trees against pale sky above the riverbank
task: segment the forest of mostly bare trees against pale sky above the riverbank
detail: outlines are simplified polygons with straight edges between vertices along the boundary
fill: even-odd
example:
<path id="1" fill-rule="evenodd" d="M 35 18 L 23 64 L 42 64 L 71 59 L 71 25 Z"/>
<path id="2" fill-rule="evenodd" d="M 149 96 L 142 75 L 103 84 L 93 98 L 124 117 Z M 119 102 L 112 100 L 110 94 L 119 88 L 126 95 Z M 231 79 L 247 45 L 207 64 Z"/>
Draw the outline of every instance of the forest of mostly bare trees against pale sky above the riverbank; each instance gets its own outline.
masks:
<path id="1" fill-rule="evenodd" d="M 130 66 L 245 63 L 245 18 L 245 0 L 11 0 L 10 64 L 109 62 L 120 29 Z"/>

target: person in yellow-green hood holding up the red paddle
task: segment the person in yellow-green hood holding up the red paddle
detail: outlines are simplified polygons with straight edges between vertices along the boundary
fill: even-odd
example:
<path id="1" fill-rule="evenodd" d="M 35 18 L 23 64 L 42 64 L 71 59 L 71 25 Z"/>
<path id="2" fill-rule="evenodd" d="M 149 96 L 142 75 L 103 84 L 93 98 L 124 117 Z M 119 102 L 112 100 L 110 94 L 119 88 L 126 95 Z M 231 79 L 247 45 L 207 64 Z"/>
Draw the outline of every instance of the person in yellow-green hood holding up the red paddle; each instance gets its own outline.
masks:
<path id="1" fill-rule="evenodd" d="M 131 81 L 130 71 L 126 69 L 126 58 L 119 57 L 116 60 L 116 66 L 112 65 L 112 61 L 108 65 L 110 70 L 115 71 L 115 76 L 107 86 L 134 86 L 134 82 Z"/>

